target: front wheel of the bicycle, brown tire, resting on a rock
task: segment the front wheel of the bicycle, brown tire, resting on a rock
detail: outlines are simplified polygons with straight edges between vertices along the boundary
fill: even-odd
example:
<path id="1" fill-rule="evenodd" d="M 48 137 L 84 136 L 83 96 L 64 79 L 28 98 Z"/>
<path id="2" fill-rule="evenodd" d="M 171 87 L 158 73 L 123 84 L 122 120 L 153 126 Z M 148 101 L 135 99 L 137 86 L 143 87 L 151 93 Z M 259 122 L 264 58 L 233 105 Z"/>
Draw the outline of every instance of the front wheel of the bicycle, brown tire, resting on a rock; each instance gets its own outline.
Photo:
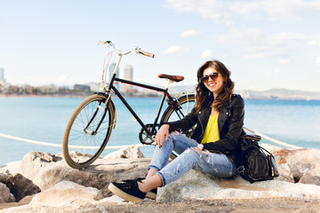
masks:
<path id="1" fill-rule="evenodd" d="M 92 95 L 76 107 L 63 136 L 63 155 L 68 165 L 83 169 L 107 146 L 116 120 L 115 106 L 103 95 Z"/>

